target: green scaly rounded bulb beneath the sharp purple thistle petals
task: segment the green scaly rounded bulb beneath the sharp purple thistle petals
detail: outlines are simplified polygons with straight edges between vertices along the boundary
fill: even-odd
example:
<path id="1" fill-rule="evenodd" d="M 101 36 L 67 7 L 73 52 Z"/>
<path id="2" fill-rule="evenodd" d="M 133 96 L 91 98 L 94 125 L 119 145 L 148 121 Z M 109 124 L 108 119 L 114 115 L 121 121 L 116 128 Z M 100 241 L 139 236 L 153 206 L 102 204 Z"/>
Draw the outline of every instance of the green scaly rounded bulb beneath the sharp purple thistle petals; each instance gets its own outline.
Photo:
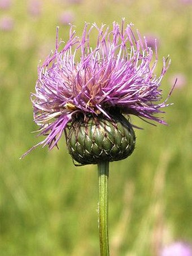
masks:
<path id="1" fill-rule="evenodd" d="M 123 115 L 78 116 L 67 132 L 69 154 L 80 164 L 117 161 L 132 154 L 136 136 Z"/>

